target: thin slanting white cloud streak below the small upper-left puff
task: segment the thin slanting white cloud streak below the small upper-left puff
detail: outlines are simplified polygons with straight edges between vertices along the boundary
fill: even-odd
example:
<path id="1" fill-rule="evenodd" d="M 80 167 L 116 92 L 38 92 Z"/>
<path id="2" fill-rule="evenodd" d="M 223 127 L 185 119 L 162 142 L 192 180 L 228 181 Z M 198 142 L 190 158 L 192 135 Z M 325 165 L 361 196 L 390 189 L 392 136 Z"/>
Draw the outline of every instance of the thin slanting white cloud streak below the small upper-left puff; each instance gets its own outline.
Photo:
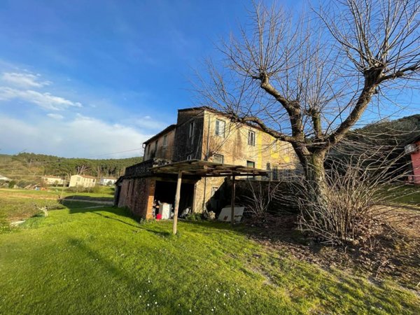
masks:
<path id="1" fill-rule="evenodd" d="M 34 90 L 18 90 L 11 87 L 0 87 L 0 101 L 10 101 L 11 99 L 20 99 L 50 111 L 62 111 L 70 106 L 82 107 L 82 104 L 79 102 L 72 102 L 69 99 L 57 97 L 48 92 L 42 93 Z"/>

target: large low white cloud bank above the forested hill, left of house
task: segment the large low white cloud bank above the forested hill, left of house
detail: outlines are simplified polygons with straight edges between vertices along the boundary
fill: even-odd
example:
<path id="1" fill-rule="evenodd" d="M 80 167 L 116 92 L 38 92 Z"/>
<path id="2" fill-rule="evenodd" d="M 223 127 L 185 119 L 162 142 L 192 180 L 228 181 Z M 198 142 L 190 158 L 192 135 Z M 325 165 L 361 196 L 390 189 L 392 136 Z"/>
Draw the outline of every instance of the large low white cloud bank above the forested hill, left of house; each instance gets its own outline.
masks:
<path id="1" fill-rule="evenodd" d="M 126 158 L 141 156 L 143 142 L 151 137 L 134 127 L 85 116 L 76 116 L 70 121 L 45 116 L 23 121 L 3 115 L 0 125 L 8 134 L 1 144 L 3 153 L 26 150 L 69 158 Z"/>

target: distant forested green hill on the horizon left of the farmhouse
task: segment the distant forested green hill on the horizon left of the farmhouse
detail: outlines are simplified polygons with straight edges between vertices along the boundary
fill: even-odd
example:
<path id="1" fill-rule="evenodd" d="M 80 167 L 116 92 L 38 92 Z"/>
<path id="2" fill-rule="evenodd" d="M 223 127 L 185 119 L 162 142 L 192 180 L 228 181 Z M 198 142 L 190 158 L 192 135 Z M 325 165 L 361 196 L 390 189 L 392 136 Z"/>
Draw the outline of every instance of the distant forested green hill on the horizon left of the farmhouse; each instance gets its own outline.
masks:
<path id="1" fill-rule="evenodd" d="M 142 160 L 143 158 L 90 160 L 19 153 L 18 155 L 0 155 L 0 174 L 12 179 L 43 175 L 68 177 L 73 174 L 118 177 L 124 174 L 126 167 Z"/>

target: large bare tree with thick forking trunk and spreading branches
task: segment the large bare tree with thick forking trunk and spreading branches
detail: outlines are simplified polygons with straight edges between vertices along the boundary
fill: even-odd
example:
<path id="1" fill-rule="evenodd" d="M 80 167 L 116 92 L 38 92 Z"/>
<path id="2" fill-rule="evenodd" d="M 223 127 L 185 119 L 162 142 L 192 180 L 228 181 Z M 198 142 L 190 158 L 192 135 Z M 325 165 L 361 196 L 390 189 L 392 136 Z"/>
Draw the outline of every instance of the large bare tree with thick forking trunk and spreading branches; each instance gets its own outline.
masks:
<path id="1" fill-rule="evenodd" d="M 363 114 L 414 87 L 419 1 L 343 0 L 294 18 L 255 4 L 249 25 L 219 46 L 197 87 L 202 103 L 292 144 L 308 193 L 326 200 L 325 155 Z"/>

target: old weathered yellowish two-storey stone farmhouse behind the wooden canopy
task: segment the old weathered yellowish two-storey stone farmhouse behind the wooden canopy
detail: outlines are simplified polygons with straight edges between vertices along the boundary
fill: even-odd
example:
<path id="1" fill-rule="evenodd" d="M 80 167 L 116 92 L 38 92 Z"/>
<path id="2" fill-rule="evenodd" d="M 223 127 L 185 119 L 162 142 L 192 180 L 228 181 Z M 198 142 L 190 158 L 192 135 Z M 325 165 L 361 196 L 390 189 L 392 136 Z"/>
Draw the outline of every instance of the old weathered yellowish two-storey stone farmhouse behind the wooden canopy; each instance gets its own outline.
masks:
<path id="1" fill-rule="evenodd" d="M 144 162 L 127 167 L 118 179 L 115 204 L 129 207 L 137 216 L 153 218 L 155 200 L 174 204 L 176 176 L 153 174 L 151 169 L 180 161 L 206 161 L 212 167 L 236 165 L 269 174 L 263 178 L 247 176 L 248 180 L 276 180 L 296 172 L 299 165 L 290 144 L 277 141 L 258 127 L 232 122 L 207 107 L 180 109 L 176 125 L 144 142 Z M 179 209 L 220 211 L 226 206 L 219 197 L 223 183 L 223 176 L 183 178 Z"/>

